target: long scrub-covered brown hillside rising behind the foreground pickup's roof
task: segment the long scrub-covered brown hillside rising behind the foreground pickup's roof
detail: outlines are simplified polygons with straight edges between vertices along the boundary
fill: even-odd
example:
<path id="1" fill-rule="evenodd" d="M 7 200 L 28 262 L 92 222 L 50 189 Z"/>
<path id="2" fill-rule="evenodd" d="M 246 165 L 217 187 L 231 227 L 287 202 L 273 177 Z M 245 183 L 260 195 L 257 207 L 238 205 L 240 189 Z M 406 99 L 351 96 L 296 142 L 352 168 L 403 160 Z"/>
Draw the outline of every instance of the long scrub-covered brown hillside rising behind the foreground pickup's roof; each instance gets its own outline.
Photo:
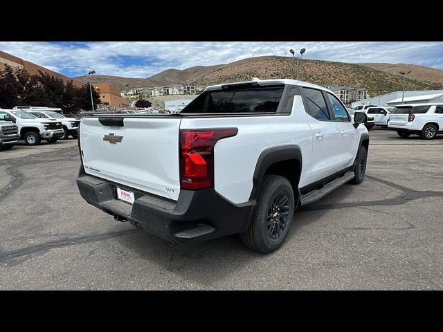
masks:
<path id="1" fill-rule="evenodd" d="M 396 65 L 395 65 L 396 66 Z M 413 65 L 411 65 L 413 66 Z M 419 67 L 419 66 L 417 66 Z M 427 67 L 423 67 L 427 68 Z M 438 71 L 429 68 L 431 71 Z M 412 73 L 411 73 L 412 74 Z M 292 57 L 265 56 L 242 59 L 230 64 L 216 66 L 196 66 L 184 70 L 168 69 L 148 78 L 129 78 L 109 75 L 95 75 L 92 82 L 109 82 L 125 90 L 144 86 L 164 86 L 174 83 L 188 83 L 207 86 L 217 83 L 228 83 L 269 78 L 295 78 L 296 61 Z M 426 82 L 416 80 L 412 76 L 405 80 L 406 90 L 443 89 L 442 82 L 431 82 L 423 75 Z M 89 77 L 76 77 L 82 82 L 88 82 Z M 300 80 L 316 84 L 345 84 L 356 88 L 366 88 L 370 95 L 379 95 L 401 90 L 402 77 L 385 71 L 379 71 L 361 64 L 346 64 L 320 60 L 300 60 Z"/>

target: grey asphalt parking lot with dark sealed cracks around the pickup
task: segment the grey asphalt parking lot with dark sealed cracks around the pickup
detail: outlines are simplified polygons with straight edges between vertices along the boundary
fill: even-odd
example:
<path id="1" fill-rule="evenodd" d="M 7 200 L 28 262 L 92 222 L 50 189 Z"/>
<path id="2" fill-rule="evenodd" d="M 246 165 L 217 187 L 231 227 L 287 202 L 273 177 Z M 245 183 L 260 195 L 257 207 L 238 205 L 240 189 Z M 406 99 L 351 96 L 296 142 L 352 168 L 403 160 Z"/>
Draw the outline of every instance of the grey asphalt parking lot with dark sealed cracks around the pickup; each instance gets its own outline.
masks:
<path id="1" fill-rule="evenodd" d="M 0 290 L 442 289 L 443 136 L 370 131 L 361 185 L 296 212 L 270 255 L 177 246 L 78 193 L 76 140 L 0 151 Z"/>

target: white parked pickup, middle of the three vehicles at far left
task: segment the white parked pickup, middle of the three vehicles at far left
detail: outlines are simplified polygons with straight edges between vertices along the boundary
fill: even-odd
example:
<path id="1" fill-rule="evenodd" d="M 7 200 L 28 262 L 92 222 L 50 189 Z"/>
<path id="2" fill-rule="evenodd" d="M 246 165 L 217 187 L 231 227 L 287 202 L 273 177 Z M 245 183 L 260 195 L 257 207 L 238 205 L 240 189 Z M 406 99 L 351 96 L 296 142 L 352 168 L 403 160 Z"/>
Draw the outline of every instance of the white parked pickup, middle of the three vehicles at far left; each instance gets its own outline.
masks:
<path id="1" fill-rule="evenodd" d="M 27 145 L 39 145 L 42 139 L 50 143 L 57 142 L 64 134 L 62 122 L 55 119 L 40 119 L 15 109 L 0 109 L 0 116 L 9 116 L 17 124 L 20 139 Z"/>

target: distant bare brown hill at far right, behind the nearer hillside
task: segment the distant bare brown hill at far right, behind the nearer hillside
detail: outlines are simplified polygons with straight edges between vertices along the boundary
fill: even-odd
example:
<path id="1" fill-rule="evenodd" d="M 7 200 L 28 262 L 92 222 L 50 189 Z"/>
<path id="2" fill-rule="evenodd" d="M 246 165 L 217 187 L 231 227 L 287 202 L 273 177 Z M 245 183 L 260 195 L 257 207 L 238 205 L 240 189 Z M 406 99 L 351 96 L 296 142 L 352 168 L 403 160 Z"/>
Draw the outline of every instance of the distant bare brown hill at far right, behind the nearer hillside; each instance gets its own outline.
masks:
<path id="1" fill-rule="evenodd" d="M 410 71 L 408 77 L 415 80 L 443 84 L 443 71 L 437 68 L 417 66 L 416 64 L 361 64 L 361 66 L 400 76 L 399 71 L 404 73 Z"/>

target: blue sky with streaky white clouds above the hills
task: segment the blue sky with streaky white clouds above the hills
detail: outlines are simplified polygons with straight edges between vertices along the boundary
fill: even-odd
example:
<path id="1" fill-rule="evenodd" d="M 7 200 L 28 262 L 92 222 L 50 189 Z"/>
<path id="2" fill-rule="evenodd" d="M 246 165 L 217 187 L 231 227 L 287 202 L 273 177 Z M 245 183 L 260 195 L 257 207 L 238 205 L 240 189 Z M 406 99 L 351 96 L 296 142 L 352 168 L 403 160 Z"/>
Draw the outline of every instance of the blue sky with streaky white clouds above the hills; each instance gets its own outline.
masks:
<path id="1" fill-rule="evenodd" d="M 165 69 L 224 64 L 260 55 L 338 62 L 419 64 L 443 70 L 443 42 L 0 42 L 0 50 L 69 77 L 150 77 Z"/>

